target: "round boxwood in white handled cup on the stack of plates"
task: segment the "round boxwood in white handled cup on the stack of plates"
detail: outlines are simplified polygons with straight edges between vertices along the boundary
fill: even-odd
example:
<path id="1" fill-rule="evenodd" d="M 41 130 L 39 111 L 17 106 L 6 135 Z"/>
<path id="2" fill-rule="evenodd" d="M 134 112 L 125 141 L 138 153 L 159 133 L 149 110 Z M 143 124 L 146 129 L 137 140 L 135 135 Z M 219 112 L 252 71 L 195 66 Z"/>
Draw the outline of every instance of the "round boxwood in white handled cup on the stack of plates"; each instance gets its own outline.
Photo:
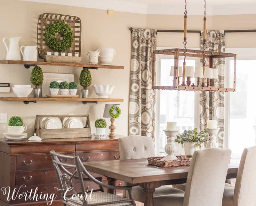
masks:
<path id="1" fill-rule="evenodd" d="M 12 116 L 9 119 L 8 127 L 4 126 L 4 130 L 9 134 L 22 134 L 27 128 L 27 126 L 23 126 L 23 119 L 19 116 Z"/>

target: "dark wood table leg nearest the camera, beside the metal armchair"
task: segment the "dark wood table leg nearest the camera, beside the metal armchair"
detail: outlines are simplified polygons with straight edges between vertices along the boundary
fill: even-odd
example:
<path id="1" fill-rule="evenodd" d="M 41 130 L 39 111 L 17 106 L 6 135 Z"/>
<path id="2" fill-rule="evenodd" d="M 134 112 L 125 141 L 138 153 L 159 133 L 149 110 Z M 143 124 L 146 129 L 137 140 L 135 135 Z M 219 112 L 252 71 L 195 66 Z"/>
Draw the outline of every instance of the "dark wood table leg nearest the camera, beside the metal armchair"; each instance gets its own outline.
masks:
<path id="1" fill-rule="evenodd" d="M 144 206 L 154 206 L 154 192 L 157 187 L 161 186 L 161 182 L 147 182 L 139 185 L 144 188 L 144 192 L 146 193 Z"/>

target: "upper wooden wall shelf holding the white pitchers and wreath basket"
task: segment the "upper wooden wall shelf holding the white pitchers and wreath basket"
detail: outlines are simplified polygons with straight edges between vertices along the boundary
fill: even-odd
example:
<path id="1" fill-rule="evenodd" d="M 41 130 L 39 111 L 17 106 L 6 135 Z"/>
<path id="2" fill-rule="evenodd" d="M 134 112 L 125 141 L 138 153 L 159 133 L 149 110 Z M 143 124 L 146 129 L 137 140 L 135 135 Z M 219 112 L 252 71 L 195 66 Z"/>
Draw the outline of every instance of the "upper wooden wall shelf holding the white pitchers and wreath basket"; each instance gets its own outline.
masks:
<path id="1" fill-rule="evenodd" d="M 9 61 L 9 60 L 0 60 L 0 64 L 12 64 L 12 65 L 25 65 L 25 68 L 35 65 L 49 65 L 49 66 L 77 66 L 85 67 L 88 69 L 124 69 L 124 66 L 115 66 L 115 65 L 90 65 L 90 64 L 76 64 L 76 63 L 60 63 L 60 62 L 29 62 L 29 61 Z"/>

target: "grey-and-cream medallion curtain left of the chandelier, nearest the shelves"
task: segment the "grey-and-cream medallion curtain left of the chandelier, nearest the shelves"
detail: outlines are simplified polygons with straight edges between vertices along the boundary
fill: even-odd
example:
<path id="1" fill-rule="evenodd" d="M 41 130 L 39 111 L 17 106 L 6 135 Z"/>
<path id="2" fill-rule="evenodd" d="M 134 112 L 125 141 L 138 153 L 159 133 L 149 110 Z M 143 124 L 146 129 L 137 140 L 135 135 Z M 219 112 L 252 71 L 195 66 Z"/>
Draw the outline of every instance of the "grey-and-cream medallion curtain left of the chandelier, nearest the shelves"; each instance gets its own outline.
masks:
<path id="1" fill-rule="evenodd" d="M 156 94 L 152 90 L 152 53 L 156 30 L 133 29 L 129 95 L 129 135 L 155 140 Z"/>

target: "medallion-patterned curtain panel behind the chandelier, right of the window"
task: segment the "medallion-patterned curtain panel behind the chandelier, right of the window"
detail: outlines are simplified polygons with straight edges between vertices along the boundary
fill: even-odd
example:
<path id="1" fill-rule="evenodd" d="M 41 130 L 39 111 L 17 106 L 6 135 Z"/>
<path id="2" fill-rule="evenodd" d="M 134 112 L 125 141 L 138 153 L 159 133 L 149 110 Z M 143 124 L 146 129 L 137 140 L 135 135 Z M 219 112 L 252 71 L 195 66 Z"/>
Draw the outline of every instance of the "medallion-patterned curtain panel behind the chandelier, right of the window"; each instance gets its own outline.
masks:
<path id="1" fill-rule="evenodd" d="M 203 49 L 203 35 L 201 35 L 201 50 Z M 206 51 L 225 52 L 224 31 L 207 31 Z M 206 62 L 208 66 L 208 62 Z M 216 87 L 225 87 L 225 59 L 216 58 L 213 61 L 213 69 L 218 69 L 219 79 Z M 207 127 L 207 120 L 216 119 L 220 131 L 217 141 L 223 148 L 224 140 L 224 92 L 200 92 L 200 129 Z"/>

